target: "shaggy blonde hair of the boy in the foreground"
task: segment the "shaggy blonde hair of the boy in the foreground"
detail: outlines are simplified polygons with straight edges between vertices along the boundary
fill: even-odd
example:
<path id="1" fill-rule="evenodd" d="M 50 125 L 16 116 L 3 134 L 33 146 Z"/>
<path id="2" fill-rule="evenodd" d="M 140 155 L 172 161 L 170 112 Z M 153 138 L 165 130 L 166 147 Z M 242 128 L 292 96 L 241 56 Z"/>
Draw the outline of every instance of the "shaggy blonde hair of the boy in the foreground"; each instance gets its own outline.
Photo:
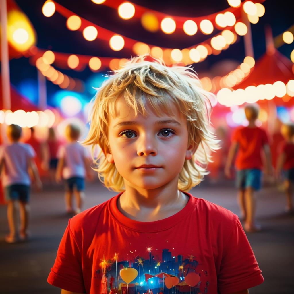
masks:
<path id="1" fill-rule="evenodd" d="M 123 191 L 123 177 L 114 163 L 108 163 L 103 153 L 110 150 L 108 117 L 115 116 L 116 100 L 123 95 L 135 115 L 140 113 L 143 116 L 147 115 L 147 104 L 158 116 L 161 116 L 162 111 L 170 114 L 170 104 L 173 102 L 187 119 L 189 145 L 198 145 L 196 153 L 190 160 L 185 160 L 179 174 L 178 188 L 188 191 L 208 174 L 206 166 L 211 162 L 210 152 L 218 149 L 218 140 L 210 129 L 207 109 L 211 108 L 207 97 L 210 93 L 201 88 L 191 67 L 167 67 L 162 61 L 153 59 L 150 62 L 146 58 L 150 56 L 131 59 L 122 69 L 114 71 L 98 89 L 90 114 L 90 130 L 83 143 L 92 145 L 92 157 L 96 144 L 101 147 L 98 157 L 93 157 L 98 166 L 95 169 L 98 177 L 108 189 Z"/>

